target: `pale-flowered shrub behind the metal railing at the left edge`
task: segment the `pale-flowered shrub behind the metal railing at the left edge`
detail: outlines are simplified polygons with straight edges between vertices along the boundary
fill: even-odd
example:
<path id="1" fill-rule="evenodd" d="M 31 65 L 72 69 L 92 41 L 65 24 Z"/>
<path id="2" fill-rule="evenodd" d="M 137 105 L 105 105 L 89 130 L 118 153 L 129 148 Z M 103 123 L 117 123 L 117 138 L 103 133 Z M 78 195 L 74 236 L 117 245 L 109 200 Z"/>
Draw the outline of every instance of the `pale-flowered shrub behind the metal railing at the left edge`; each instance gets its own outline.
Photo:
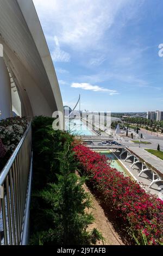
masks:
<path id="1" fill-rule="evenodd" d="M 12 154 L 15 150 L 18 142 L 20 142 L 23 133 L 27 129 L 27 119 L 26 118 L 7 118 L 0 121 L 0 147 L 2 154 L 2 150 L 8 154 Z M 4 152 L 0 157 L 4 157 Z"/>

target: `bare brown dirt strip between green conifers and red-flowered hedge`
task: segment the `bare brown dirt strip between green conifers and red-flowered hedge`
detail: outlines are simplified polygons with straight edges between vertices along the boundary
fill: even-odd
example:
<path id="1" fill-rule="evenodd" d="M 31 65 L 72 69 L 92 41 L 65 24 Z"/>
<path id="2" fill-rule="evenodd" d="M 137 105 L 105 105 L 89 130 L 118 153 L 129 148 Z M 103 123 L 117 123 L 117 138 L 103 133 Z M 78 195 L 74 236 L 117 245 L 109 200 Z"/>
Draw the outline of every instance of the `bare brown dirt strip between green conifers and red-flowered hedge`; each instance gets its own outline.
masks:
<path id="1" fill-rule="evenodd" d="M 105 216 L 104 210 L 102 209 L 101 205 L 99 205 L 98 201 L 90 192 L 89 188 L 87 188 L 87 186 L 84 185 L 84 189 L 86 192 L 89 192 L 91 194 L 92 205 L 93 205 L 93 209 L 89 209 L 87 211 L 91 212 L 95 218 L 95 223 L 90 225 L 89 229 L 91 230 L 92 228 L 97 228 L 98 231 L 102 233 L 105 239 L 104 243 L 101 241 L 101 242 L 98 242 L 98 245 L 124 245 L 120 236 L 118 236 L 118 234 L 112 227 L 112 224 L 109 222 L 108 218 Z"/>

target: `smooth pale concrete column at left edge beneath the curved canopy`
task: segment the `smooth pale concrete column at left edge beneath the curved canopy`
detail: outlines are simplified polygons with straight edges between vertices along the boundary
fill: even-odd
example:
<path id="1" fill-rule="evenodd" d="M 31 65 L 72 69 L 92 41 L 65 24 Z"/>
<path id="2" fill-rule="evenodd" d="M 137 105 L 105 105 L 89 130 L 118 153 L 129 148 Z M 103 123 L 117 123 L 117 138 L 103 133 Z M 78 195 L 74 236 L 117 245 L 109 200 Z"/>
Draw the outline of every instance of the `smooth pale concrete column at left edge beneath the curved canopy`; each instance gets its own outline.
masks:
<path id="1" fill-rule="evenodd" d="M 3 57 L 0 57 L 0 111 L 0 119 L 12 116 L 10 77 Z"/>

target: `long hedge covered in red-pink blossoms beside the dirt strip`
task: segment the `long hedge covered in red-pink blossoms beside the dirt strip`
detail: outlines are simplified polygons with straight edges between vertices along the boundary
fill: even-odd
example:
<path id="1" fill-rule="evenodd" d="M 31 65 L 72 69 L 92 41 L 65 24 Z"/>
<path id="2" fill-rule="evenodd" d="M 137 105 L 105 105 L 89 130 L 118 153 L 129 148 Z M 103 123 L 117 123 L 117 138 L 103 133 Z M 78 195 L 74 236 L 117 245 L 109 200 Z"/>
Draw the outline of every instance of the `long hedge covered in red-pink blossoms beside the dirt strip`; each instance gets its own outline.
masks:
<path id="1" fill-rule="evenodd" d="M 146 193 L 129 177 L 106 163 L 106 157 L 84 145 L 76 145 L 74 152 L 80 167 L 90 176 L 90 182 L 102 194 L 106 207 L 114 210 L 128 234 L 141 239 L 141 230 L 149 245 L 163 241 L 163 201 Z"/>

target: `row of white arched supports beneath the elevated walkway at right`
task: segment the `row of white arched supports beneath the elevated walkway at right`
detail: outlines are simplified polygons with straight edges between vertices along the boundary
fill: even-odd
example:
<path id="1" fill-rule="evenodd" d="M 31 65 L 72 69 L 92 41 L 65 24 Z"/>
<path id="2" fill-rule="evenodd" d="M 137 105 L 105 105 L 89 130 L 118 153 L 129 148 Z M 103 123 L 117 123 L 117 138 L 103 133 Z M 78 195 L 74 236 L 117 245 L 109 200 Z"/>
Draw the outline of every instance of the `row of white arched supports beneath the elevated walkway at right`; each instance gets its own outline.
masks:
<path id="1" fill-rule="evenodd" d="M 124 153 L 127 153 L 127 157 L 126 159 L 124 159 L 124 161 L 126 162 L 128 159 L 130 159 L 130 157 L 133 157 L 133 160 L 132 160 L 132 164 L 131 164 L 131 168 L 134 169 L 133 167 L 135 166 L 135 164 L 137 163 L 141 163 L 142 167 L 141 169 L 139 170 L 139 175 L 138 176 L 141 176 L 142 173 L 144 172 L 151 172 L 152 173 L 152 182 L 151 184 L 148 186 L 148 187 L 152 187 L 152 185 L 156 182 L 163 182 L 163 178 L 160 176 L 159 173 L 157 173 L 155 170 L 153 170 L 152 168 L 149 168 L 147 163 L 143 162 L 141 159 L 139 159 L 139 157 L 137 157 L 134 153 L 131 153 L 127 148 L 123 148 L 122 151 L 121 151 L 121 154 L 120 154 L 120 159 L 122 160 L 122 155 Z"/>

